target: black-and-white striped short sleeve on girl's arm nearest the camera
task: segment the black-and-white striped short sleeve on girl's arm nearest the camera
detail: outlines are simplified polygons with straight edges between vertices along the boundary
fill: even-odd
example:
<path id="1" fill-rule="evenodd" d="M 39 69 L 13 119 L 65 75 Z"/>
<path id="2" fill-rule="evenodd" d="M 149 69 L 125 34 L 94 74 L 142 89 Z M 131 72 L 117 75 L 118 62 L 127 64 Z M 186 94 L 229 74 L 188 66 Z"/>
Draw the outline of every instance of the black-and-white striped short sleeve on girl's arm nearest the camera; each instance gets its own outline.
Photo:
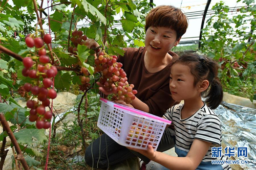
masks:
<path id="1" fill-rule="evenodd" d="M 221 146 L 221 124 L 215 114 L 204 115 L 197 127 L 196 139 Z"/>

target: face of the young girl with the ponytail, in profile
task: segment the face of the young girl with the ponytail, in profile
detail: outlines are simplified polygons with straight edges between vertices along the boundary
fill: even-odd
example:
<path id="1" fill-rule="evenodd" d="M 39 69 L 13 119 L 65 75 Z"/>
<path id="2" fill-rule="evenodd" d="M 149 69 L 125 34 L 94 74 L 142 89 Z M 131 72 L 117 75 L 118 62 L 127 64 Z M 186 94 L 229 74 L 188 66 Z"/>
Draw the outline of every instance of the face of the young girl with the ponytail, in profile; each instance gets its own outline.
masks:
<path id="1" fill-rule="evenodd" d="M 176 101 L 189 100 L 200 97 L 197 85 L 194 86 L 195 78 L 190 72 L 190 68 L 184 64 L 177 63 L 170 70 L 170 92 Z"/>

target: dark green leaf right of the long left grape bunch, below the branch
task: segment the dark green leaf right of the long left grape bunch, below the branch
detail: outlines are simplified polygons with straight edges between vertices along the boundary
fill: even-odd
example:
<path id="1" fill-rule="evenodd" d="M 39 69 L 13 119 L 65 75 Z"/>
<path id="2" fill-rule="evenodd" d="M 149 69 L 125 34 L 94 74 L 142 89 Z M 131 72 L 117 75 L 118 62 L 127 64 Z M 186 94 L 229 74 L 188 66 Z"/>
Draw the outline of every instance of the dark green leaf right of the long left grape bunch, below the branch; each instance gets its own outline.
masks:
<path id="1" fill-rule="evenodd" d="M 65 74 L 62 74 L 62 71 L 58 71 L 58 74 L 54 78 L 54 86 L 55 88 L 58 88 L 60 90 L 69 90 L 71 86 L 72 78 L 69 74 L 69 72 L 65 72 Z"/>

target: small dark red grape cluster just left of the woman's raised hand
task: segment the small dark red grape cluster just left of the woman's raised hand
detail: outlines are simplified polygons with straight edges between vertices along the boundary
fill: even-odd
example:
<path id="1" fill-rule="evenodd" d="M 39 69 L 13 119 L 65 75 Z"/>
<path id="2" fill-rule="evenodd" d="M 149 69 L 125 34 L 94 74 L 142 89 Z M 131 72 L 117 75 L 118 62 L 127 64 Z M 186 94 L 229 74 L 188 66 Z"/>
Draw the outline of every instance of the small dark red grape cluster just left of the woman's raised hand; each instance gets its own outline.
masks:
<path id="1" fill-rule="evenodd" d="M 87 36 L 83 35 L 83 32 L 81 30 L 75 30 L 72 32 L 72 37 L 70 38 L 70 40 L 74 46 L 70 46 L 68 52 L 76 55 L 77 45 L 86 45 Z"/>

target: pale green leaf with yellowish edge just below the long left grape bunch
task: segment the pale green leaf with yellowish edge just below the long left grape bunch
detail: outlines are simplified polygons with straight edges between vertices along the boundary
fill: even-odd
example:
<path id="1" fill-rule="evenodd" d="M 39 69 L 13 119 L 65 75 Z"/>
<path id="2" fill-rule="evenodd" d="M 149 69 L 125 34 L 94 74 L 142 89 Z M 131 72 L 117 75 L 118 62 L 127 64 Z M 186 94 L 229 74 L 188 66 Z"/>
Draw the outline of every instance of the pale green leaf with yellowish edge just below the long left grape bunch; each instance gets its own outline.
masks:
<path id="1" fill-rule="evenodd" d="M 47 140 L 44 129 L 23 129 L 13 133 L 18 143 L 32 145 L 32 140 L 44 142 Z"/>

